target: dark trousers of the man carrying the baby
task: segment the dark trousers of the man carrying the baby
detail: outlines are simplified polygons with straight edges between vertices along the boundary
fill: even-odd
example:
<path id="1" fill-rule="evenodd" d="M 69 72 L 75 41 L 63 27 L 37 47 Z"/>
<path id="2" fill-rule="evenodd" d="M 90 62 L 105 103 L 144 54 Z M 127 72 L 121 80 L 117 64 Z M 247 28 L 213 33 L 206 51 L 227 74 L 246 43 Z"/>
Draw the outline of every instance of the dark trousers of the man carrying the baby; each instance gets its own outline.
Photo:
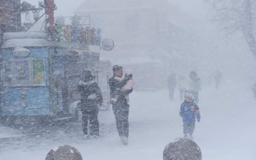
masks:
<path id="1" fill-rule="evenodd" d="M 116 118 L 116 128 L 119 136 L 127 137 L 129 136 L 129 105 L 117 105 L 112 104 L 113 112 Z"/>

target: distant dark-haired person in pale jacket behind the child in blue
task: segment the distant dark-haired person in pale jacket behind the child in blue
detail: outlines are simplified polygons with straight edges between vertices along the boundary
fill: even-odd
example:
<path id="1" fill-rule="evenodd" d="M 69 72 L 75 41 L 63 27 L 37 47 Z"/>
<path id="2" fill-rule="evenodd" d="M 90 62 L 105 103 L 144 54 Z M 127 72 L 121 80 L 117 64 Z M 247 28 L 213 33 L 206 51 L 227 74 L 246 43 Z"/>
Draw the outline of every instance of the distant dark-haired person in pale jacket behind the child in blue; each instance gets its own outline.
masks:
<path id="1" fill-rule="evenodd" d="M 201 91 L 201 82 L 200 78 L 197 77 L 197 74 L 195 71 L 192 71 L 189 73 L 189 84 L 188 84 L 188 90 L 191 94 L 194 96 L 195 103 L 198 104 L 199 102 L 199 93 L 198 91 Z"/>

